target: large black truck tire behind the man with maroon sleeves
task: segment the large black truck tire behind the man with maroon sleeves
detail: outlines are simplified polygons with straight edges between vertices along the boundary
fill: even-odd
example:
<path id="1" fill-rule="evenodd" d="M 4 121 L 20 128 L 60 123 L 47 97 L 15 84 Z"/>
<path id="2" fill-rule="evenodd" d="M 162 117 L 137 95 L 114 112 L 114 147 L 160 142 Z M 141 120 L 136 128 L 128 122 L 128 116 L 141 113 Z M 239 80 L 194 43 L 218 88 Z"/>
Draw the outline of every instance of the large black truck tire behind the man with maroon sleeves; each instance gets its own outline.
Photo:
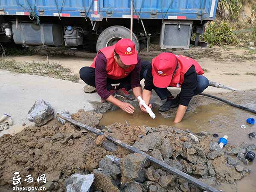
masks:
<path id="1" fill-rule="evenodd" d="M 131 31 L 130 29 L 124 27 L 124 26 L 111 26 L 105 29 L 100 35 L 97 40 L 96 49 L 97 52 L 99 49 L 102 49 L 103 47 L 112 46 L 113 44 L 116 44 L 117 41 L 123 38 L 130 38 Z M 137 36 L 133 33 L 132 41 L 135 44 L 135 49 L 137 52 L 140 52 L 140 42 Z"/>

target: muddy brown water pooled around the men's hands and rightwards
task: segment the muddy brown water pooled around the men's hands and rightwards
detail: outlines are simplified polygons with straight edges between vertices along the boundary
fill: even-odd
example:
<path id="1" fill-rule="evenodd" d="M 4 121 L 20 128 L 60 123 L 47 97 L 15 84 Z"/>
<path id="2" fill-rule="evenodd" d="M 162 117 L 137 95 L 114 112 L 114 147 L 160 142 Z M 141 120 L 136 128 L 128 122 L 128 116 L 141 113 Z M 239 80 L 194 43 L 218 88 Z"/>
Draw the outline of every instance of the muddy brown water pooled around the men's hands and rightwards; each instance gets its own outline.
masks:
<path id="1" fill-rule="evenodd" d="M 255 105 L 250 103 L 250 108 L 255 109 L 256 103 Z M 228 143 L 232 145 L 239 145 L 243 142 L 248 144 L 256 143 L 256 140 L 251 141 L 248 137 L 250 132 L 256 131 L 256 125 L 246 123 L 247 118 L 256 118 L 256 116 L 253 113 L 233 108 L 229 105 L 210 104 L 198 106 L 195 112 L 186 113 L 183 121 L 178 124 L 173 123 L 174 117 L 164 118 L 157 112 L 157 108 L 153 109 L 153 111 L 156 114 L 156 119 L 151 119 L 148 114 L 142 113 L 138 108 L 132 115 L 123 112 L 121 109 L 108 111 L 103 115 L 100 125 L 111 125 L 114 122 L 128 122 L 131 126 L 146 125 L 157 127 L 158 125 L 168 125 L 182 130 L 188 129 L 195 133 L 207 131 L 210 134 L 217 133 L 220 137 L 227 135 Z M 246 125 L 246 128 L 242 129 L 241 125 Z M 218 142 L 218 138 L 215 140 Z M 236 157 L 234 156 L 234 158 Z M 239 163 L 241 166 L 246 167 L 241 161 Z M 252 169 L 250 177 L 243 178 L 236 185 L 223 184 L 217 186 L 217 188 L 224 192 L 256 192 L 256 160 L 247 167 Z"/>

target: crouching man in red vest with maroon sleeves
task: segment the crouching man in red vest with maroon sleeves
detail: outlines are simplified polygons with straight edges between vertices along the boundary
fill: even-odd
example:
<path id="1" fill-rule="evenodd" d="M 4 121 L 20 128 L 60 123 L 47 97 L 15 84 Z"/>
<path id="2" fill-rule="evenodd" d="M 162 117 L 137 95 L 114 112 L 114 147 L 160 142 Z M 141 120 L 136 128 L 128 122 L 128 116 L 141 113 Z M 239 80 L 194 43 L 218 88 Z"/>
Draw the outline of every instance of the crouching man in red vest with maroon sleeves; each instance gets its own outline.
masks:
<path id="1" fill-rule="evenodd" d="M 114 96 L 118 95 L 128 100 L 134 96 L 142 96 L 140 80 L 147 69 L 135 50 L 130 39 L 121 39 L 111 47 L 99 50 L 90 67 L 80 69 L 80 78 L 96 88 L 101 96 L 101 102 L 111 102 L 127 113 L 133 113 L 134 107 L 121 102 Z M 119 84 L 114 87 L 112 84 Z M 133 90 L 134 96 L 128 93 Z"/>

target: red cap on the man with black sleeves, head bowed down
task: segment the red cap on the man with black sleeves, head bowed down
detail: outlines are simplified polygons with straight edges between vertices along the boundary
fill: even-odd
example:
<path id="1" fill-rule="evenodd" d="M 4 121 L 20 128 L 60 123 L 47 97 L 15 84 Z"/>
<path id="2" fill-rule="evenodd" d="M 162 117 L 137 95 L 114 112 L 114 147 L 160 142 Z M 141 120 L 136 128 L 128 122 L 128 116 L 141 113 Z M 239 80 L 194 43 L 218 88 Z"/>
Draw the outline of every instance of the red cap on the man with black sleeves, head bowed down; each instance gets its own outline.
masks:
<path id="1" fill-rule="evenodd" d="M 172 81 L 177 67 L 177 58 L 170 52 L 163 52 L 152 60 L 154 86 L 166 88 Z"/>

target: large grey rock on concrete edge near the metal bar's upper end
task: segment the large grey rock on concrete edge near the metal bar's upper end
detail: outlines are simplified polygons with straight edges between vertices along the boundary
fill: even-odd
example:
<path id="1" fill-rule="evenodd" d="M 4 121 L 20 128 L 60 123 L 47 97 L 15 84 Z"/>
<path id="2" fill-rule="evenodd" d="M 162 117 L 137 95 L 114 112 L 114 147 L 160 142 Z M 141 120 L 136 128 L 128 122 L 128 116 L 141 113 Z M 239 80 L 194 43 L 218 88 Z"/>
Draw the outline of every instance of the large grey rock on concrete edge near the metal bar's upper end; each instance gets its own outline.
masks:
<path id="1" fill-rule="evenodd" d="M 41 127 L 54 117 L 54 110 L 48 102 L 39 99 L 35 101 L 27 117 L 29 121 L 35 122 L 36 126 Z"/>

